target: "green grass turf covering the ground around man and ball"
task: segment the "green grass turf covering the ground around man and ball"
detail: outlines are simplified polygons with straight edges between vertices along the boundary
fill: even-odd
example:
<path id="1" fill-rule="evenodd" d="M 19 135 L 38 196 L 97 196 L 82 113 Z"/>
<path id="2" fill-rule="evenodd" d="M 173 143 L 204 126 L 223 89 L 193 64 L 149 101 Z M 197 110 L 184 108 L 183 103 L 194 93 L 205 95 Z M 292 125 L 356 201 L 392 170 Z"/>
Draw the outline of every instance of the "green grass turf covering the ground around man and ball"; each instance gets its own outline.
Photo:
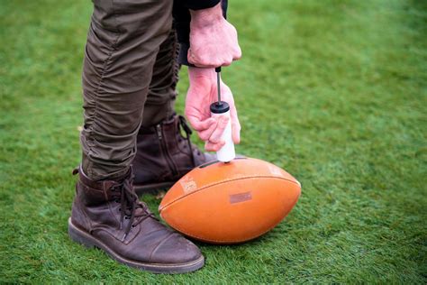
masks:
<path id="1" fill-rule="evenodd" d="M 0 281 L 427 282 L 425 2 L 231 1 L 243 58 L 223 78 L 238 151 L 294 174 L 303 195 L 254 242 L 199 244 L 204 269 L 186 275 L 132 270 L 68 238 L 91 12 L 1 1 Z"/>

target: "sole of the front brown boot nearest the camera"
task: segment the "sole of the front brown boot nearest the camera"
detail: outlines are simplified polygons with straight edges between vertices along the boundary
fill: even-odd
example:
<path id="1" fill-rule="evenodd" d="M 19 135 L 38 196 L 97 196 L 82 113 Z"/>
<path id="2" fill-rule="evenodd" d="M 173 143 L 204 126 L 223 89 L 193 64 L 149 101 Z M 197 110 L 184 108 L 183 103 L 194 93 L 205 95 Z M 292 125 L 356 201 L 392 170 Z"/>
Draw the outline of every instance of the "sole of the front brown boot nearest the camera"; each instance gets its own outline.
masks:
<path id="1" fill-rule="evenodd" d="M 83 244 L 87 248 L 99 248 L 107 253 L 111 258 L 115 261 L 126 264 L 130 267 L 137 268 L 143 271 L 150 271 L 153 273 L 186 273 L 191 271 L 196 271 L 201 269 L 204 266 L 204 256 L 202 255 L 200 258 L 193 262 L 185 262 L 185 263 L 147 263 L 147 262 L 135 262 L 129 259 L 124 258 L 118 253 L 114 253 L 114 251 L 109 248 L 103 242 L 95 239 L 90 234 L 87 234 L 85 231 L 77 228 L 76 225 L 71 223 L 71 218 L 68 218 L 68 235 L 69 237 L 78 244 Z"/>

